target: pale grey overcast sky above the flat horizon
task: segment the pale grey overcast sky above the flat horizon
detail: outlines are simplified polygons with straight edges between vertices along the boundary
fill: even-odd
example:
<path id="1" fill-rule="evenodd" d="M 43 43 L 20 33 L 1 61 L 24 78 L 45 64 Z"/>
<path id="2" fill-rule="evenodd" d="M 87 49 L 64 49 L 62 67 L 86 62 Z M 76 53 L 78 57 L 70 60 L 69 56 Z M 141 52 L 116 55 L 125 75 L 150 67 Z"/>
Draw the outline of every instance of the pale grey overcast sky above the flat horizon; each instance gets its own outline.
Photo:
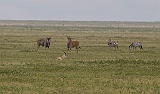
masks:
<path id="1" fill-rule="evenodd" d="M 160 0 L 0 0 L 0 20 L 160 21 Z"/>

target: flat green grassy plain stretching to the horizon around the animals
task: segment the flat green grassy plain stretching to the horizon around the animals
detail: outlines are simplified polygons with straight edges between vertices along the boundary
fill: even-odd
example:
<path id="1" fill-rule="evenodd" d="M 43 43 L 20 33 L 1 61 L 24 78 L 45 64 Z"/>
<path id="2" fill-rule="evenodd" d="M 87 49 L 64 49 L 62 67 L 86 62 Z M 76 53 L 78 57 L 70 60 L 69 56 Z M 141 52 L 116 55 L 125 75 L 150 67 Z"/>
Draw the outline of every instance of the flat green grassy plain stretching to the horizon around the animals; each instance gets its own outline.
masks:
<path id="1" fill-rule="evenodd" d="M 80 42 L 78 54 L 66 36 Z M 37 51 L 46 37 L 50 48 Z M 143 50 L 130 51 L 136 41 Z M 56 60 L 62 50 L 67 58 Z M 0 21 L 0 94 L 159 93 L 159 22 Z"/>

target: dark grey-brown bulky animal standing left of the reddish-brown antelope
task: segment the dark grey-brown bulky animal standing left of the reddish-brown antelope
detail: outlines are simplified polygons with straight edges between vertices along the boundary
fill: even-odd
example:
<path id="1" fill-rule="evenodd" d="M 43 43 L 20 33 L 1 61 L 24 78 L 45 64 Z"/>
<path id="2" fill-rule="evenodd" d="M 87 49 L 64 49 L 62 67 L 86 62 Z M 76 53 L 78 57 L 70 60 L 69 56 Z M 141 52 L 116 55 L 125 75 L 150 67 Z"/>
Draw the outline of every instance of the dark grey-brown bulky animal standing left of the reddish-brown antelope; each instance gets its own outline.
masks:
<path id="1" fill-rule="evenodd" d="M 49 48 L 49 46 L 50 46 L 50 39 L 51 38 L 46 38 L 46 39 L 42 38 L 42 39 L 37 40 L 37 49 L 39 49 L 40 46 L 45 47 L 45 49 Z"/>

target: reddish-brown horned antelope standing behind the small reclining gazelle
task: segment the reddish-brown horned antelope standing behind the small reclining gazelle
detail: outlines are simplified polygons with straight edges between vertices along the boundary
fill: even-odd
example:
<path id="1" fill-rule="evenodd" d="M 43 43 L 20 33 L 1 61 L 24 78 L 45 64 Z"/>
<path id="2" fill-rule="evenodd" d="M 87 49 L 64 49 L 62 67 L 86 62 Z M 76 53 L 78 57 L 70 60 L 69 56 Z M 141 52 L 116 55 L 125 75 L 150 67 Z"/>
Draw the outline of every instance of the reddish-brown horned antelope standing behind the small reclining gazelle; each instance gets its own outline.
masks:
<path id="1" fill-rule="evenodd" d="M 68 48 L 68 50 L 71 50 L 71 48 L 76 48 L 76 50 L 77 50 L 77 53 L 78 53 L 78 48 L 80 48 L 79 47 L 79 41 L 72 41 L 72 38 L 71 37 L 69 37 L 69 36 L 67 36 L 67 38 L 68 38 L 68 42 L 67 42 L 67 48 Z"/>

